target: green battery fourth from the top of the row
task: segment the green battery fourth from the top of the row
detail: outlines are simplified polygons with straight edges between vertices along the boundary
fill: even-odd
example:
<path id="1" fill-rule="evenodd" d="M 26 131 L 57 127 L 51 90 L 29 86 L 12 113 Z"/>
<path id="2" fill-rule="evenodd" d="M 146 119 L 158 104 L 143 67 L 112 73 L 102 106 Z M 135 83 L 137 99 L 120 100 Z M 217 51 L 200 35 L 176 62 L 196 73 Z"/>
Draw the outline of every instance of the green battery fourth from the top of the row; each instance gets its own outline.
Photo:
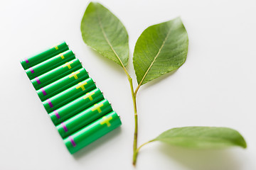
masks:
<path id="1" fill-rule="evenodd" d="M 87 74 L 86 70 L 81 68 L 61 79 L 58 79 L 57 81 L 54 81 L 51 84 L 48 84 L 47 86 L 42 87 L 41 89 L 37 90 L 36 93 L 41 101 L 45 101 L 47 98 L 60 93 L 60 91 L 68 89 L 74 84 L 78 84 L 78 82 L 85 80 L 88 77 L 89 75 Z"/>

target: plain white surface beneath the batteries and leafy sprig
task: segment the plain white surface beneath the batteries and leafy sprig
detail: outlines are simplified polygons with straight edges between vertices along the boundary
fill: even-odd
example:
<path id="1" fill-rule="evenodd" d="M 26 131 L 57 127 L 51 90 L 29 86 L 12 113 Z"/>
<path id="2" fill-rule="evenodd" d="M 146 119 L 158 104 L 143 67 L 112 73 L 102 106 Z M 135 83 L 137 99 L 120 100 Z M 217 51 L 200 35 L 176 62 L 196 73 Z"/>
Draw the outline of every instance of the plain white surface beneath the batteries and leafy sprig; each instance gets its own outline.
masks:
<path id="1" fill-rule="evenodd" d="M 142 31 L 181 16 L 188 31 L 186 63 L 172 75 L 142 86 L 137 97 L 139 144 L 164 130 L 189 125 L 225 126 L 241 132 L 247 149 L 195 151 L 152 143 L 137 169 L 256 169 L 255 1 L 114 1 L 103 5 L 129 33 L 132 53 Z M 0 169 L 133 169 L 132 98 L 114 62 L 82 41 L 80 21 L 88 1 L 1 1 Z M 122 128 L 68 153 L 19 60 L 65 40 L 122 117 Z"/>

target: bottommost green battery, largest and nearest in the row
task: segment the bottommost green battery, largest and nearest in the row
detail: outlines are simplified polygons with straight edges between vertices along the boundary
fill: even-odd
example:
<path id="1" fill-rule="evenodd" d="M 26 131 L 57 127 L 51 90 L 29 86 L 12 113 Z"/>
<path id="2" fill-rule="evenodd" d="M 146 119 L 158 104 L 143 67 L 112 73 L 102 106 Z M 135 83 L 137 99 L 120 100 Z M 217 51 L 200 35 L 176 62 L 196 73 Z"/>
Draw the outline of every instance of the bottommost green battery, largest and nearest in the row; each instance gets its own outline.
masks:
<path id="1" fill-rule="evenodd" d="M 112 111 L 78 132 L 73 133 L 73 135 L 66 137 L 64 143 L 70 154 L 74 154 L 120 125 L 122 123 L 119 116 Z"/>

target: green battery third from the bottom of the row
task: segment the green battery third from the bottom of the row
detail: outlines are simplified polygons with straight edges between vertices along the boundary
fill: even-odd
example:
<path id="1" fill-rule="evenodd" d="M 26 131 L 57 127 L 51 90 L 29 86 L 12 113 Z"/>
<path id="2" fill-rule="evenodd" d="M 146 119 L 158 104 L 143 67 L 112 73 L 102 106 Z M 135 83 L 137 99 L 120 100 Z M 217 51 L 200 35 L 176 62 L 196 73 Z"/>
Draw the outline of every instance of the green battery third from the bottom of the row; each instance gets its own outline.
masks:
<path id="1" fill-rule="evenodd" d="M 58 125 L 73 115 L 85 110 L 93 104 L 103 99 L 103 94 L 100 89 L 94 89 L 85 95 L 76 98 L 74 101 L 54 110 L 49 113 L 54 125 Z"/>

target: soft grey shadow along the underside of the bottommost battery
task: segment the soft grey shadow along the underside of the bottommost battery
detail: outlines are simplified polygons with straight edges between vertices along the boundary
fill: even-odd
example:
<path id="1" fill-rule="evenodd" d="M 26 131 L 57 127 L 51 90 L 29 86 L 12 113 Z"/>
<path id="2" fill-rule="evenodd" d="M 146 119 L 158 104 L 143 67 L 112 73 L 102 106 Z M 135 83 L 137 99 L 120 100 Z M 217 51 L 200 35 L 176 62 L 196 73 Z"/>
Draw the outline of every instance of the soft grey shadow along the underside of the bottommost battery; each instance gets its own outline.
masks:
<path id="1" fill-rule="evenodd" d="M 79 160 L 85 156 L 90 157 L 90 153 L 92 153 L 96 149 L 102 150 L 104 148 L 104 145 L 107 145 L 107 142 L 114 140 L 114 137 L 117 137 L 117 135 L 119 135 L 121 132 L 122 130 L 119 127 L 112 132 L 107 133 L 107 135 L 100 137 L 98 140 L 95 140 L 95 142 L 92 142 L 90 145 L 87 145 L 86 147 L 80 149 L 78 152 L 73 154 L 73 158 L 75 160 Z"/>

